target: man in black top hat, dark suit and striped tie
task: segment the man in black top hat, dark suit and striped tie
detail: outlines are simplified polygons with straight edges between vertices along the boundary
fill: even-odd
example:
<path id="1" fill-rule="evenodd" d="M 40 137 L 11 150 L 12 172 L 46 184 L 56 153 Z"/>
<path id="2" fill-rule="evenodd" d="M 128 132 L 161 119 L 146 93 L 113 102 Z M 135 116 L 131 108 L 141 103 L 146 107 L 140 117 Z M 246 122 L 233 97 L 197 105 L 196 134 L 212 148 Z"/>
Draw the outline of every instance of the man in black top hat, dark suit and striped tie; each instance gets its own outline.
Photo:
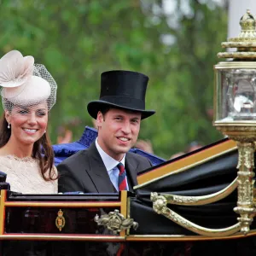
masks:
<path id="1" fill-rule="evenodd" d="M 137 172 L 151 166 L 147 158 L 128 152 L 137 142 L 141 119 L 154 114 L 145 110 L 148 77 L 131 71 L 102 73 L 100 100 L 87 106 L 96 119 L 98 137 L 57 166 L 59 192 L 111 193 L 132 191 Z"/>

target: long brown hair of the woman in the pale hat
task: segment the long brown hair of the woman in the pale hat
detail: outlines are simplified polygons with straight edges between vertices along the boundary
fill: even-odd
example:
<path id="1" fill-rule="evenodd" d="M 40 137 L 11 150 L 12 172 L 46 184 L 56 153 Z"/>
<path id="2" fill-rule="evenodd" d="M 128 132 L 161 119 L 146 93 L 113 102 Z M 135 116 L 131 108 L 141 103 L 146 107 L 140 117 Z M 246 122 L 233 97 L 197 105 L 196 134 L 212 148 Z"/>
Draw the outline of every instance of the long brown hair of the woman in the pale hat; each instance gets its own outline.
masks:
<path id="1" fill-rule="evenodd" d="M 0 148 L 9 141 L 11 129 L 8 129 L 8 122 L 5 119 L 5 114 L 0 120 Z M 47 132 L 34 143 L 32 149 L 32 157 L 39 160 L 39 166 L 45 181 L 55 180 L 57 177 L 53 170 L 54 152 L 51 147 L 50 139 Z M 49 176 L 46 177 L 46 172 L 49 170 Z"/>

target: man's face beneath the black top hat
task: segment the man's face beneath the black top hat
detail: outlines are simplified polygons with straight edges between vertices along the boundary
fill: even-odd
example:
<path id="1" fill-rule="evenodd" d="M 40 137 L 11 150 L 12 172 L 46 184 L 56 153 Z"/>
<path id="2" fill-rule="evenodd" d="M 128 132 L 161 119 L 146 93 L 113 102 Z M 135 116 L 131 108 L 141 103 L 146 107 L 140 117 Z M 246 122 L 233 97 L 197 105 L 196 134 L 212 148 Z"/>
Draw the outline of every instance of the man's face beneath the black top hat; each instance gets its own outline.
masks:
<path id="1" fill-rule="evenodd" d="M 98 112 L 98 143 L 115 160 L 122 160 L 124 154 L 137 142 L 140 131 L 141 113 L 110 108 L 102 115 Z"/>

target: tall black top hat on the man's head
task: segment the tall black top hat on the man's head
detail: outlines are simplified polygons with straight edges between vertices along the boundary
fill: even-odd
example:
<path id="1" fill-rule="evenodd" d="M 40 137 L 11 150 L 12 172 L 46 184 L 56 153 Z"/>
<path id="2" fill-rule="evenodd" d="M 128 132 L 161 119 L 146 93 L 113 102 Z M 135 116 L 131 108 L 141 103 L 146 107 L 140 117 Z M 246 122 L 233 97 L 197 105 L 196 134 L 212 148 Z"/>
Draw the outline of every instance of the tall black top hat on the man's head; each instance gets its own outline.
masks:
<path id="1" fill-rule="evenodd" d="M 102 73 L 101 79 L 100 99 L 87 105 L 88 112 L 94 119 L 105 106 L 140 112 L 142 119 L 155 113 L 154 110 L 145 110 L 148 77 L 143 73 L 113 70 Z"/>

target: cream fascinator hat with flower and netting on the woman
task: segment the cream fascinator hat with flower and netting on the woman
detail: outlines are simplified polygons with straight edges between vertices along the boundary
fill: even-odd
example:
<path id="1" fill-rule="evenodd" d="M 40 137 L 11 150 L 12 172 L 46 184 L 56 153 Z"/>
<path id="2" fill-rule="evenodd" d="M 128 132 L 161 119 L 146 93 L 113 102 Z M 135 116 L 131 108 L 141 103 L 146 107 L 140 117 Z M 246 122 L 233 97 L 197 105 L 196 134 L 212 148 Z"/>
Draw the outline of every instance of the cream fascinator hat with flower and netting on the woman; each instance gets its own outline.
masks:
<path id="1" fill-rule="evenodd" d="M 0 90 L 3 108 L 30 107 L 47 102 L 48 110 L 55 105 L 57 84 L 41 64 L 34 64 L 32 56 L 11 50 L 0 59 Z"/>

